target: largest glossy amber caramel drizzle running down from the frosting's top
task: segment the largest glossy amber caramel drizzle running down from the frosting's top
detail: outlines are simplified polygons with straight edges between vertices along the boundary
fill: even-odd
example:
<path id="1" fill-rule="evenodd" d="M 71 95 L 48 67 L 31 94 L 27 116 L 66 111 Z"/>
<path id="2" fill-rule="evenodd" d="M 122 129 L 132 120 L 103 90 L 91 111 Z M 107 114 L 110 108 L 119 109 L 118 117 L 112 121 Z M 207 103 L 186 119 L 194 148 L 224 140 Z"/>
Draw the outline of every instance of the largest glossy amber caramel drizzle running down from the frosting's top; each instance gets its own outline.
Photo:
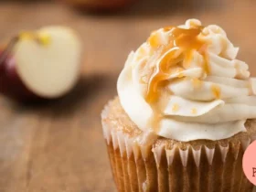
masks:
<path id="1" fill-rule="evenodd" d="M 165 27 L 164 31 L 169 32 L 170 41 L 167 45 L 160 45 L 159 42 L 156 42 L 159 39 L 159 35 L 156 35 L 156 33 L 152 34 L 147 40 L 149 45 L 154 48 L 157 47 L 158 50 L 156 51 L 161 52 L 158 63 L 155 66 L 155 72 L 151 76 L 147 87 L 146 101 L 151 103 L 157 100 L 161 82 L 168 80 L 170 74 L 172 74 L 172 67 L 185 59 L 189 63 L 188 59 L 192 59 L 193 50 L 200 50 L 200 54 L 204 56 L 204 59 L 208 60 L 206 42 L 198 38 L 202 27 L 189 29 Z M 206 61 L 203 69 L 205 69 L 206 73 L 209 72 L 208 61 Z M 179 78 L 181 77 L 183 75 L 179 76 Z"/>

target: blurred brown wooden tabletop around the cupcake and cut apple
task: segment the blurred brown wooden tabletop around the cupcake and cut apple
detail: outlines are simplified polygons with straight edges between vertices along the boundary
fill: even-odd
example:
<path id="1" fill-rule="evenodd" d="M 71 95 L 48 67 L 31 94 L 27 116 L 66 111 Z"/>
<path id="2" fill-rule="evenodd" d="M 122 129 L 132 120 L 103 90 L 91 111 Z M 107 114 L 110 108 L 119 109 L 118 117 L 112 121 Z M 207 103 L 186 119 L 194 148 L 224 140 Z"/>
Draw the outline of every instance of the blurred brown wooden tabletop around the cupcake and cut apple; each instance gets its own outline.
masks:
<path id="1" fill-rule="evenodd" d="M 171 2 L 171 3 L 168 3 Z M 0 3 L 0 37 L 59 24 L 84 45 L 82 78 L 67 97 L 21 105 L 0 96 L 0 191 L 115 191 L 101 109 L 116 94 L 123 63 L 150 31 L 197 17 L 222 26 L 256 75 L 256 1 L 141 0 L 125 13 L 86 15 L 53 3 Z M 157 4 L 158 3 L 158 4 Z"/>

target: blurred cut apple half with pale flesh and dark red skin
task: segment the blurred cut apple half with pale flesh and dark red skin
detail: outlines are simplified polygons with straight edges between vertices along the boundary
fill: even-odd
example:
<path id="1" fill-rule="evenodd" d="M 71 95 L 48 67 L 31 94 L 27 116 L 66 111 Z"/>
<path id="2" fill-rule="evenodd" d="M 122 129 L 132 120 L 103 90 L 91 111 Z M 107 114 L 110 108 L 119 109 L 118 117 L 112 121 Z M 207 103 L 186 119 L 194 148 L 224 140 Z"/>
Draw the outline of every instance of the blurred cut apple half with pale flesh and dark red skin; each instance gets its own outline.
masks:
<path id="1" fill-rule="evenodd" d="M 19 101 L 59 98 L 80 77 L 80 53 L 69 27 L 21 32 L 0 51 L 0 91 Z"/>

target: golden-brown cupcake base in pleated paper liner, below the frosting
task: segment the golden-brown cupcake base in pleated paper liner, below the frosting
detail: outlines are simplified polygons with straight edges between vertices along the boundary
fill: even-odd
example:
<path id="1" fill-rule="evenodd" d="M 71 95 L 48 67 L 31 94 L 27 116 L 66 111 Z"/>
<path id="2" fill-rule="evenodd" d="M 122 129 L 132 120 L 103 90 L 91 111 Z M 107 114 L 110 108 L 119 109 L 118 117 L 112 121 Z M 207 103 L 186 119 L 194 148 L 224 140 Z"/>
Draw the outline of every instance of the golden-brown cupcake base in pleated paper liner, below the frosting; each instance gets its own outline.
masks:
<path id="1" fill-rule="evenodd" d="M 116 106 L 113 110 L 119 111 Z M 102 126 L 119 192 L 253 191 L 242 171 L 242 155 L 256 140 L 256 134 L 222 142 L 185 144 L 157 139 L 150 133 L 131 134 L 130 128 L 120 123 L 126 121 L 123 116 L 115 119 L 110 111 L 107 107 L 102 112 Z"/>

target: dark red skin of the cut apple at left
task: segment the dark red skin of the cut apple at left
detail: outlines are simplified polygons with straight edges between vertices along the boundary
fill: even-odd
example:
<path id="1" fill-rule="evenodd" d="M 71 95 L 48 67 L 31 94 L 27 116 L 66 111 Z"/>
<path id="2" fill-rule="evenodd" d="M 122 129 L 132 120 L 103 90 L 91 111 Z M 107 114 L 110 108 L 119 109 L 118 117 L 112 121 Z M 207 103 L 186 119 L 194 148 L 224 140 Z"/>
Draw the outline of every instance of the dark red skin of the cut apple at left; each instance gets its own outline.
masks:
<path id="1" fill-rule="evenodd" d="M 3 63 L 0 63 L 0 92 L 16 101 L 27 102 L 41 99 L 32 91 L 29 91 L 20 79 L 16 71 L 16 60 L 12 56 L 8 56 Z"/>

